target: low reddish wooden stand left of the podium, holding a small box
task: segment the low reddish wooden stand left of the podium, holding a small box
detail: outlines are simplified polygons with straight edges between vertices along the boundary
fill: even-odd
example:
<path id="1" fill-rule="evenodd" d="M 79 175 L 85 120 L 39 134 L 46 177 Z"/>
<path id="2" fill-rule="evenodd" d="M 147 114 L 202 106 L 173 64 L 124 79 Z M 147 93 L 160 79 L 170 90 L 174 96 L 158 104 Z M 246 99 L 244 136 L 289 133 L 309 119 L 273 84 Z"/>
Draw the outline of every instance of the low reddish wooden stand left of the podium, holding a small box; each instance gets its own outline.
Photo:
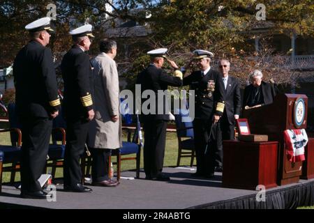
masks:
<path id="1" fill-rule="evenodd" d="M 223 187 L 276 187 L 277 141 L 223 141 Z"/>

